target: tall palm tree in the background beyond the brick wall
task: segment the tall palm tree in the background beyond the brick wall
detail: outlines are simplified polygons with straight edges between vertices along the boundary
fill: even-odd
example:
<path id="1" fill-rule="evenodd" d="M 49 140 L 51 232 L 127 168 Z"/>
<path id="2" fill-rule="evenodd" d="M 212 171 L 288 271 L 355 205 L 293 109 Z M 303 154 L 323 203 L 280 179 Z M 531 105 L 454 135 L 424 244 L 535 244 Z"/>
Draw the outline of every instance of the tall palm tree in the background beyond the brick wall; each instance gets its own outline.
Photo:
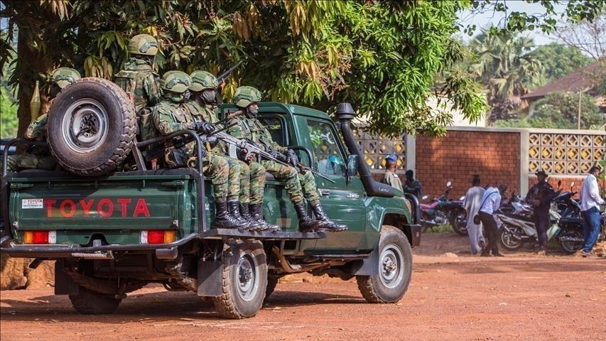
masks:
<path id="1" fill-rule="evenodd" d="M 543 66 L 529 53 L 532 39 L 514 34 L 481 34 L 470 43 L 477 63 L 470 65 L 476 79 L 487 86 L 492 107 L 490 121 L 514 117 L 514 109 L 529 85 L 539 83 Z"/>

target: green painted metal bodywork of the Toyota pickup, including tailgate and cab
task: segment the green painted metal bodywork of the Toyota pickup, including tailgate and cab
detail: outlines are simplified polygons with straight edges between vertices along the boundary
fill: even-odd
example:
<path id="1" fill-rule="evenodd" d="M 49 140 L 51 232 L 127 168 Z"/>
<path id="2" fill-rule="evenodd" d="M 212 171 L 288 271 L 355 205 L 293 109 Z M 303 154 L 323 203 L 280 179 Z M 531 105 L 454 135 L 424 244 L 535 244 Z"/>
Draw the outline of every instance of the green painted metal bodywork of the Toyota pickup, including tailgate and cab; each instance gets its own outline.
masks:
<path id="1" fill-rule="evenodd" d="M 224 107 L 226 109 L 228 107 Z M 264 117 L 276 117 L 287 127 L 283 143 L 313 150 L 308 122 L 334 124 L 315 109 L 266 102 L 259 105 Z M 343 158 L 347 148 L 336 143 Z M 302 157 L 305 161 L 305 157 Z M 306 162 L 309 162 L 307 160 Z M 363 162 L 363 161 L 362 161 Z M 321 202 L 330 219 L 349 228 L 325 239 L 303 240 L 299 254 L 367 253 L 377 245 L 384 217 L 400 215 L 411 221 L 404 197 L 367 197 L 362 182 L 352 177 L 316 176 Z M 141 230 L 176 229 L 177 239 L 198 231 L 198 205 L 205 205 L 207 228 L 213 219 L 212 186 L 205 184 L 204 200 L 196 193 L 190 175 L 111 175 L 103 178 L 12 178 L 9 181 L 9 220 L 18 241 L 26 230 L 55 230 L 57 244 L 88 244 L 102 235 L 109 244 L 140 244 Z M 401 193 L 398 193 L 401 195 Z M 40 204 L 36 200 L 43 200 Z M 283 183 L 269 179 L 264 196 L 266 220 L 296 232 L 294 207 Z"/>

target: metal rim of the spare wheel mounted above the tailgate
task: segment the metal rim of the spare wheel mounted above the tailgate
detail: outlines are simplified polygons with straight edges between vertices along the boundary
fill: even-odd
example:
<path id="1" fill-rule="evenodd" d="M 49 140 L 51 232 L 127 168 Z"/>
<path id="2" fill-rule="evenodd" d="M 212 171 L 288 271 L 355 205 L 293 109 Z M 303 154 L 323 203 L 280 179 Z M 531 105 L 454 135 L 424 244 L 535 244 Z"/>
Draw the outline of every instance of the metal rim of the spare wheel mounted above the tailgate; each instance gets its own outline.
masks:
<path id="1" fill-rule="evenodd" d="M 99 148 L 109 130 L 107 111 L 92 98 L 83 98 L 70 105 L 62 123 L 63 141 L 78 153 L 90 153 Z"/>

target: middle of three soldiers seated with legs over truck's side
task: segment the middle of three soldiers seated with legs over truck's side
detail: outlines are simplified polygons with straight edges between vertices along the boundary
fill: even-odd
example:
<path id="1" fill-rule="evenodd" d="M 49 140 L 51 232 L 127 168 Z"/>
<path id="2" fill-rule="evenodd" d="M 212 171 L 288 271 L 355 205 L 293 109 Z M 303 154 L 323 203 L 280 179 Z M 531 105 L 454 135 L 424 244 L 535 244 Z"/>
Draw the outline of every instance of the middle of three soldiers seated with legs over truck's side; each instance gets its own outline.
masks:
<path id="1" fill-rule="evenodd" d="M 217 107 L 217 78 L 206 71 L 195 71 L 192 77 L 192 99 L 183 104 L 183 109 L 189 112 L 195 121 L 210 122 L 217 124 L 219 117 L 215 108 Z M 222 129 L 222 126 L 215 126 Z M 252 202 L 254 205 L 261 206 L 263 202 L 263 191 L 265 187 L 265 168 L 260 163 L 251 163 L 250 166 L 243 161 L 227 156 L 227 148 L 222 142 L 213 141 L 214 146 L 209 153 L 215 153 L 224 158 L 229 163 L 229 168 L 240 169 L 240 183 L 229 182 L 227 192 L 227 207 L 229 213 L 239 220 L 249 222 L 249 229 L 256 231 L 274 232 L 280 228 L 268 224 L 260 215 L 251 216 L 249 213 L 250 193 L 253 193 Z M 253 210 L 253 212 L 256 212 Z"/>

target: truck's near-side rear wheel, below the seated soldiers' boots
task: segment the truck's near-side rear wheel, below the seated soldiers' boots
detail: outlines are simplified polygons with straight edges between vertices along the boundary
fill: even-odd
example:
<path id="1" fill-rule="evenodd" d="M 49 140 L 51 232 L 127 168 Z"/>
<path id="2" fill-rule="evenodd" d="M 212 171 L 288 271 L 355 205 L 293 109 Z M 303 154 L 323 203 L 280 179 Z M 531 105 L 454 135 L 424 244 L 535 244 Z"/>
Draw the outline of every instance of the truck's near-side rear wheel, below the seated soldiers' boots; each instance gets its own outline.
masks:
<path id="1" fill-rule="evenodd" d="M 222 318 L 256 315 L 267 287 L 267 263 L 261 242 L 247 240 L 224 249 L 222 287 L 222 295 L 212 298 Z"/>

